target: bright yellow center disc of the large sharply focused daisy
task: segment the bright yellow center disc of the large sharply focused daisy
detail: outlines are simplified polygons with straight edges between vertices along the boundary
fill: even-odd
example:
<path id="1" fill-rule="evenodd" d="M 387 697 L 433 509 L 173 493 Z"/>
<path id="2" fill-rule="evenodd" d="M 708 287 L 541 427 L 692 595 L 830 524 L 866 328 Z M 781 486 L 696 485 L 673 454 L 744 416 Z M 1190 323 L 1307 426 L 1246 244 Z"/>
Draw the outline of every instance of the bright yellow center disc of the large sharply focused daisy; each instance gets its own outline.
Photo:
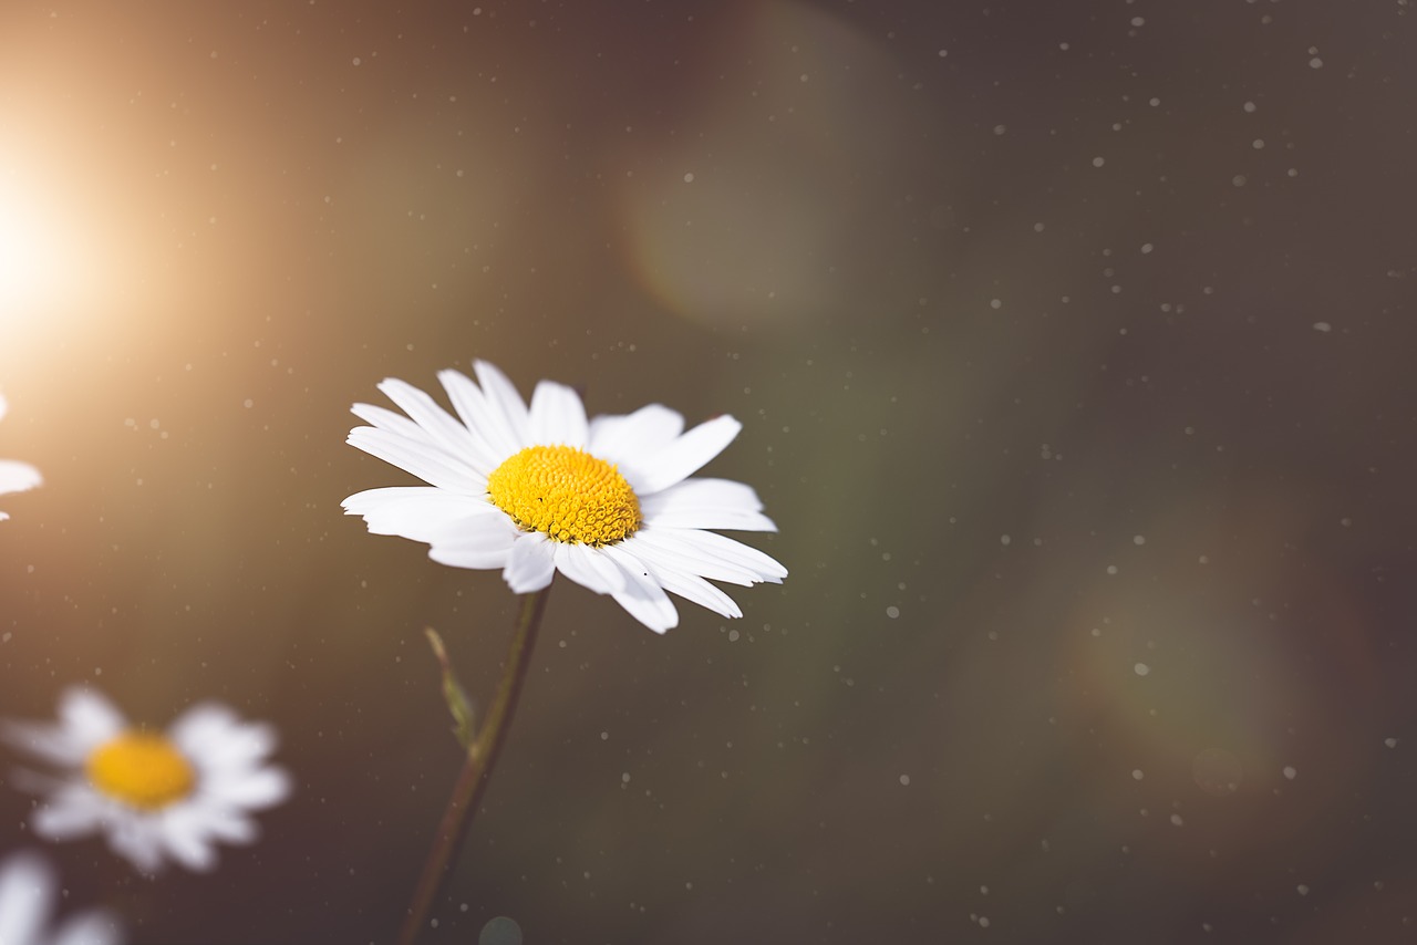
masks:
<path id="1" fill-rule="evenodd" d="M 614 544 L 640 523 L 625 476 L 575 446 L 527 446 L 492 470 L 487 494 L 519 528 L 554 541 Z"/>

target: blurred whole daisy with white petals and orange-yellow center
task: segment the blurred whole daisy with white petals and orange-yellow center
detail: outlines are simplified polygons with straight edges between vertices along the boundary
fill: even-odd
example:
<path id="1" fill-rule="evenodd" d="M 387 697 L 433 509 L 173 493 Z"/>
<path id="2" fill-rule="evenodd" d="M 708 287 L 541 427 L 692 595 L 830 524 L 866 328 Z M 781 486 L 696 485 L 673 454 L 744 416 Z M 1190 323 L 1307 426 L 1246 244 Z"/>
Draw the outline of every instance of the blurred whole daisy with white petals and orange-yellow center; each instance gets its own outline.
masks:
<path id="1" fill-rule="evenodd" d="M 248 810 L 290 793 L 268 766 L 275 731 L 244 723 L 225 706 L 193 706 L 164 734 L 132 728 L 112 703 L 86 689 L 60 700 L 60 723 L 6 723 L 0 735 L 58 768 L 18 772 L 17 786 L 44 795 L 31 819 L 47 840 L 106 833 L 143 874 L 170 859 L 188 870 L 217 864 L 215 842 L 251 843 Z"/>

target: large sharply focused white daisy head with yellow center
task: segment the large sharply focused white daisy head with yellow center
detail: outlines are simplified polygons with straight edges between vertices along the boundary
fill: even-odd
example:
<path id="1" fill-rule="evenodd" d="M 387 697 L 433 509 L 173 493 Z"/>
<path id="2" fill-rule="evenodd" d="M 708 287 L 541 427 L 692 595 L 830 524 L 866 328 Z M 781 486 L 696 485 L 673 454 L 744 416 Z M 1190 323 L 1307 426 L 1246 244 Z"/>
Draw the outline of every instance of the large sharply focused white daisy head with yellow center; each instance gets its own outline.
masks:
<path id="1" fill-rule="evenodd" d="M 502 568 L 517 594 L 560 571 L 609 594 L 645 626 L 679 622 L 665 591 L 724 616 L 738 605 L 704 578 L 778 584 L 786 568 L 708 528 L 777 531 L 750 486 L 690 479 L 743 428 L 716 417 L 689 432 L 660 404 L 587 421 L 580 395 L 541 381 L 530 408 L 507 377 L 473 361 L 478 383 L 441 371 L 456 417 L 400 380 L 380 390 L 407 417 L 356 404 L 371 424 L 349 442 L 427 486 L 370 489 L 344 500 L 376 534 L 427 541 L 428 557 L 459 568 Z"/>

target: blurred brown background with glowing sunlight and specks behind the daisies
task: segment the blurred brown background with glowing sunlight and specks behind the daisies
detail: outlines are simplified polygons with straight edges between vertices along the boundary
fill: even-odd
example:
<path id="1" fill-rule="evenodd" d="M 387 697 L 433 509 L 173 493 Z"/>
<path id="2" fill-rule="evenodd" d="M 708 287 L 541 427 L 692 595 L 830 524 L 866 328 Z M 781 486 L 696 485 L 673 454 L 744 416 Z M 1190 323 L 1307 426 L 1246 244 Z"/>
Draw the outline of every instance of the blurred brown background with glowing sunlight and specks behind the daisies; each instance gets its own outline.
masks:
<path id="1" fill-rule="evenodd" d="M 1408 0 L 0 9 L 0 711 L 279 727 L 135 942 L 387 942 L 496 572 L 341 516 L 400 377 L 730 412 L 791 570 L 564 579 L 428 942 L 1410 941 Z M 6 752 L 4 774 L 20 759 Z M 0 844 L 31 846 L 0 792 Z"/>

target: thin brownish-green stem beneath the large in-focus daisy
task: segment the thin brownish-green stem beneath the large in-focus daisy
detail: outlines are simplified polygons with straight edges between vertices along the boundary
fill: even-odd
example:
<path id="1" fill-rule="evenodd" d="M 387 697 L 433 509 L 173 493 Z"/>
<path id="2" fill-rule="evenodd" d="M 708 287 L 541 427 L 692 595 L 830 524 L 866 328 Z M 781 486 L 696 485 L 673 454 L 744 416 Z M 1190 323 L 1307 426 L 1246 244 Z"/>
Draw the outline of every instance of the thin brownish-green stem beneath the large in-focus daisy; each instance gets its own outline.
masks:
<path id="1" fill-rule="evenodd" d="M 517 616 L 517 626 L 512 635 L 512 646 L 507 650 L 507 663 L 502 670 L 502 681 L 497 683 L 497 694 L 487 710 L 487 718 L 478 730 L 478 737 L 468 745 L 468 757 L 462 762 L 462 771 L 452 786 L 452 796 L 448 798 L 448 808 L 438 823 L 438 833 L 434 836 L 434 847 L 428 853 L 428 863 L 418 878 L 414 890 L 414 901 L 408 907 L 404 918 L 404 928 L 398 934 L 400 945 L 414 945 L 418 934 L 428 924 L 428 912 L 432 910 L 434 897 L 442 887 L 448 864 L 452 863 L 458 849 L 462 847 L 463 837 L 468 836 L 468 825 L 478 810 L 478 800 L 483 788 L 487 786 L 492 766 L 497 762 L 502 742 L 506 741 L 507 730 L 512 727 L 512 714 L 517 707 L 517 696 L 521 693 L 521 683 L 527 676 L 527 666 L 531 662 L 531 646 L 536 643 L 536 632 L 541 626 L 541 615 L 546 612 L 546 598 L 551 587 L 536 594 L 521 595 L 521 613 Z"/>

